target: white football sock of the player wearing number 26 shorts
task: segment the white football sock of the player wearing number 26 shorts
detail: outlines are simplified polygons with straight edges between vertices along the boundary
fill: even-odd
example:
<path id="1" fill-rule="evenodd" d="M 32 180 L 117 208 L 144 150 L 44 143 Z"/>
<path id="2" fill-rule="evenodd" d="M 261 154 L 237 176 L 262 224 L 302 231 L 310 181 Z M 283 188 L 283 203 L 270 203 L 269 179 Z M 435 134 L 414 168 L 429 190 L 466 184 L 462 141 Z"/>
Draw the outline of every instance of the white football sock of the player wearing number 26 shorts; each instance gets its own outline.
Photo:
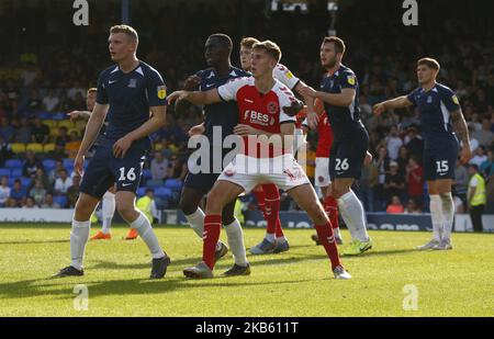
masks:
<path id="1" fill-rule="evenodd" d="M 360 241 L 369 241 L 363 206 L 357 195 L 355 195 L 353 191 L 350 190 L 337 201 L 345 224 L 347 224 L 348 229 L 350 229 L 351 237 Z"/>

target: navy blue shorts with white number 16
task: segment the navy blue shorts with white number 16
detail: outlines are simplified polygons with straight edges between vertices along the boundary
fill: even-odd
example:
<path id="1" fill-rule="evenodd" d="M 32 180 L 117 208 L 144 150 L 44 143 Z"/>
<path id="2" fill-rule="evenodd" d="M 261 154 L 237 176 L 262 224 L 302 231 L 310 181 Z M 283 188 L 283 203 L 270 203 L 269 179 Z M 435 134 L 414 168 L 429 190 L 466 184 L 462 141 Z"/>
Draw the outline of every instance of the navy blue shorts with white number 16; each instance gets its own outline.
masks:
<path id="1" fill-rule="evenodd" d="M 97 146 L 82 176 L 80 192 L 101 199 L 116 182 L 116 191 L 136 192 L 143 174 L 147 147 L 143 143 L 131 146 L 124 158 L 113 156 L 113 144 Z"/>

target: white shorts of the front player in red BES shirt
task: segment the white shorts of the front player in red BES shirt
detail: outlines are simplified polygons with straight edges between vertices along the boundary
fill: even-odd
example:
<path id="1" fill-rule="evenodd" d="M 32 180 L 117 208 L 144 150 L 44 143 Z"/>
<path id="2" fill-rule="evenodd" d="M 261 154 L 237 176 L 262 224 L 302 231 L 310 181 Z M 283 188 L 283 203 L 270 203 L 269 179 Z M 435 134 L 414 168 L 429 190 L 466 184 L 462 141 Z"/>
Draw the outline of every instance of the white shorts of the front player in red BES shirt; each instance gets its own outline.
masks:
<path id="1" fill-rule="evenodd" d="M 283 191 L 311 183 L 293 155 L 287 154 L 274 158 L 254 158 L 238 154 L 225 167 L 217 180 L 238 184 L 249 193 L 255 187 L 274 183 Z"/>

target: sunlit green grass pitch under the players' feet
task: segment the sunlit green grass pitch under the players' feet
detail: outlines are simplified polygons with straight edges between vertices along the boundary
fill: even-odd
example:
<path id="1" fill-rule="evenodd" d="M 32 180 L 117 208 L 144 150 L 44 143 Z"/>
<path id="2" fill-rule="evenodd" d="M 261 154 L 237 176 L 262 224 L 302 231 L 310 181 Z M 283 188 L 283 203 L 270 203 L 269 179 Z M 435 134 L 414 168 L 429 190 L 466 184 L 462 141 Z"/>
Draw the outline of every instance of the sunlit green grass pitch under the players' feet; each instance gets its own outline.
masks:
<path id="1" fill-rule="evenodd" d="M 50 279 L 69 263 L 69 226 L 0 224 L 0 316 L 494 315 L 492 234 L 453 234 L 453 250 L 420 252 L 413 248 L 430 234 L 371 231 L 374 249 L 344 258 L 353 279 L 337 281 L 310 239 L 313 230 L 289 229 L 290 251 L 248 257 L 249 276 L 222 278 L 233 264 L 227 256 L 215 279 L 191 281 L 182 269 L 200 261 L 201 241 L 186 226 L 160 226 L 172 264 L 165 279 L 150 281 L 147 248 L 141 239 L 121 240 L 126 230 L 117 225 L 112 240 L 88 244 L 85 276 Z M 263 229 L 245 229 L 246 246 L 262 236 Z M 88 287 L 87 310 L 75 309 L 76 284 Z M 416 287 L 415 310 L 403 308 L 406 297 L 413 305 L 405 285 Z"/>

